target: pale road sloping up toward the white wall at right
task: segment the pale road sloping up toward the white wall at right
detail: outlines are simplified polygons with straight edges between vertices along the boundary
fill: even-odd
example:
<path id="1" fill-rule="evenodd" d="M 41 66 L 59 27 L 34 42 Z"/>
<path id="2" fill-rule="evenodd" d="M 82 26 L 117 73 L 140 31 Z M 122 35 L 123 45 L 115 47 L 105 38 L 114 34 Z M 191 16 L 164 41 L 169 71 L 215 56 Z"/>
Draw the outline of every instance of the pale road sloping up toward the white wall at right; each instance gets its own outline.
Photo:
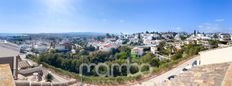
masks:
<path id="1" fill-rule="evenodd" d="M 173 68 L 171 69 L 170 71 L 164 73 L 164 74 L 161 74 L 157 77 L 154 77 L 152 79 L 149 79 L 149 80 L 146 80 L 146 81 L 143 81 L 141 82 L 140 84 L 135 84 L 135 85 L 132 85 L 132 86 L 163 86 L 163 82 L 165 80 L 168 80 L 167 78 L 171 75 L 179 75 L 180 73 L 182 73 L 182 69 L 189 66 L 189 65 L 192 65 L 192 63 L 196 60 L 199 60 L 200 59 L 200 56 L 196 56 L 186 62 L 184 62 L 183 64 L 177 66 L 176 68 Z"/>

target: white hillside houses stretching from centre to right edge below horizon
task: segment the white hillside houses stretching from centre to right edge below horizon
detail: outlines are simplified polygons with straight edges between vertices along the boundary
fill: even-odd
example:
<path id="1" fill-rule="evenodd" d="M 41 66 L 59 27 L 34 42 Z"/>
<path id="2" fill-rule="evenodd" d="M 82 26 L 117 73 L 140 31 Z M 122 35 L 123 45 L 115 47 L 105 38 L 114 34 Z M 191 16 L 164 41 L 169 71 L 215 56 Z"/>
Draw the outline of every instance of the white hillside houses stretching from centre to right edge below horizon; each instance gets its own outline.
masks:
<path id="1" fill-rule="evenodd" d="M 125 40 L 127 40 L 126 43 L 124 43 Z M 159 52 L 157 46 L 163 42 L 179 50 L 184 44 L 194 42 L 205 47 L 210 47 L 209 40 L 226 41 L 229 44 L 231 43 L 232 35 L 228 33 L 200 33 L 196 31 L 192 34 L 185 32 L 146 32 L 122 34 L 117 39 L 105 38 L 103 41 L 92 40 L 88 45 L 92 45 L 101 51 L 110 51 L 112 48 L 118 48 L 122 45 L 134 44 L 132 45 L 131 53 L 136 56 L 142 56 L 145 53 L 144 48 L 149 48 L 151 53 L 157 54 Z"/>

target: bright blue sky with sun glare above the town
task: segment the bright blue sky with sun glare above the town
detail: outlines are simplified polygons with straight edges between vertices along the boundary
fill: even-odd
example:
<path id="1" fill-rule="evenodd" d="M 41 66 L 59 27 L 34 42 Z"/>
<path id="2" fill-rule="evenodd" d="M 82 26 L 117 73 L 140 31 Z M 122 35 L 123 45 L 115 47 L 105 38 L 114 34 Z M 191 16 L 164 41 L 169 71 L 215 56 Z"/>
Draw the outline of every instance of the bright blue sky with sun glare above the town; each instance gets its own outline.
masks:
<path id="1" fill-rule="evenodd" d="M 232 32 L 232 0 L 1 0 L 0 33 Z"/>

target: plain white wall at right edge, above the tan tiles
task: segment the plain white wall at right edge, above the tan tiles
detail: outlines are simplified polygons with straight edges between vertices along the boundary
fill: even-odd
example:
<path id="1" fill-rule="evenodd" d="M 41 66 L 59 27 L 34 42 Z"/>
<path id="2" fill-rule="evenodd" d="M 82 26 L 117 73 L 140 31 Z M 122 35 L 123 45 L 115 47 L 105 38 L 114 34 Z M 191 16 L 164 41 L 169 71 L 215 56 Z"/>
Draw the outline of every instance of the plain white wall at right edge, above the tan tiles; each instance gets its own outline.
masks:
<path id="1" fill-rule="evenodd" d="M 232 62 L 232 47 L 200 52 L 201 65 Z"/>

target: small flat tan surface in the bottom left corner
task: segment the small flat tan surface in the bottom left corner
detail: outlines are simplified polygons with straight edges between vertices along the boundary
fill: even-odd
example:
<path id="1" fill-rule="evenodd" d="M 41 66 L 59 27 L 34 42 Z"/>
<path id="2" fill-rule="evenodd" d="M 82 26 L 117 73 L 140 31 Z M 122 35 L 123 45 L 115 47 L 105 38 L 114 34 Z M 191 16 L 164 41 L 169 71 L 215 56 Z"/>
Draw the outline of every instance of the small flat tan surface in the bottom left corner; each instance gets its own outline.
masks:
<path id="1" fill-rule="evenodd" d="M 9 64 L 0 64 L 0 86 L 15 86 Z"/>

